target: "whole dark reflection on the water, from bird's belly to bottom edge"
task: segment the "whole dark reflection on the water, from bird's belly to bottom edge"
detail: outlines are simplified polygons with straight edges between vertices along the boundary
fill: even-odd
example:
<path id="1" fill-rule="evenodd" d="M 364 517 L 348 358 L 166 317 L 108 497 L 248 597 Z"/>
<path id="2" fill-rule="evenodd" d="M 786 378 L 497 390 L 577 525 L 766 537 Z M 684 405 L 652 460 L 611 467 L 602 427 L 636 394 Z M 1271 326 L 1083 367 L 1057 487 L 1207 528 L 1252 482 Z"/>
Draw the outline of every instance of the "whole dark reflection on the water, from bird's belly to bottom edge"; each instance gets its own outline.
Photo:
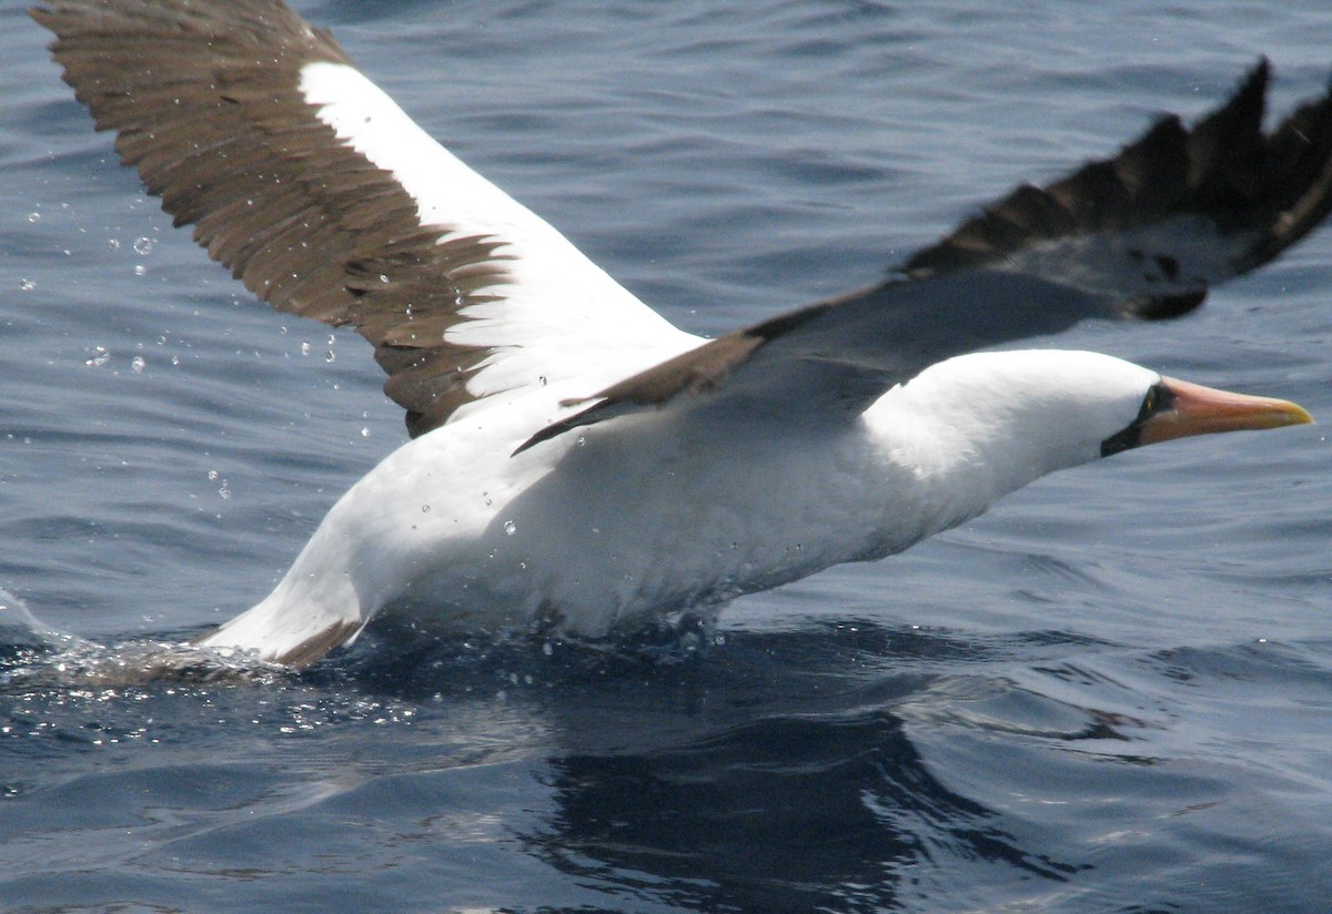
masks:
<path id="1" fill-rule="evenodd" d="M 1060 882 L 1079 867 L 946 786 L 898 713 L 958 694 L 927 671 L 978 652 L 858 624 L 573 676 L 542 702 L 553 812 L 521 837 L 571 878 L 698 910 L 880 910 L 947 861 Z"/>

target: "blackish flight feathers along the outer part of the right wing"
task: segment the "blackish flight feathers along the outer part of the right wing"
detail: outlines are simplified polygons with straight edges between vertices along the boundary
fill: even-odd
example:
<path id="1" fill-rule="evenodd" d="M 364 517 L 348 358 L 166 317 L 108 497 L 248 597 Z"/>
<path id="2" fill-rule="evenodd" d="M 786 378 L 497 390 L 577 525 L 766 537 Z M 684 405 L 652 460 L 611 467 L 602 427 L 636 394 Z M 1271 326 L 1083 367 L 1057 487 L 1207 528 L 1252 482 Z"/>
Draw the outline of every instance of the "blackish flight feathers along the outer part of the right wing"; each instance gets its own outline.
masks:
<path id="1" fill-rule="evenodd" d="M 1271 133 L 1263 117 L 1272 67 L 1260 57 L 1231 97 L 1192 129 L 1173 116 L 1156 121 L 1114 158 L 1088 162 L 1046 188 L 1023 185 L 911 255 L 918 278 L 1002 265 L 1042 242 L 1131 231 L 1196 216 L 1216 231 L 1252 234 L 1219 282 L 1267 263 L 1332 210 L 1332 80 Z M 1156 319 L 1196 307 L 1201 290 L 1172 290 L 1128 302 L 1126 315 Z"/>

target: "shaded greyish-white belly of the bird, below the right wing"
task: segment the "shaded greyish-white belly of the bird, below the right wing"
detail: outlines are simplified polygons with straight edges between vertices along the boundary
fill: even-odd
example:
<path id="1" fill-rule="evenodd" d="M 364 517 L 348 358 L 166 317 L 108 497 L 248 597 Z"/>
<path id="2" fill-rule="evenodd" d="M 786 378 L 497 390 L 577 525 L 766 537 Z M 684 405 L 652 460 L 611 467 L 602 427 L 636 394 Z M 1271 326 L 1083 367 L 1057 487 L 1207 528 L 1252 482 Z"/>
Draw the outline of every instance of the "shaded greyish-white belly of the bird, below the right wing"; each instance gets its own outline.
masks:
<path id="1" fill-rule="evenodd" d="M 884 539 L 894 484 L 850 432 L 717 447 L 694 431 L 659 416 L 614 423 L 533 448 L 531 471 L 529 452 L 473 459 L 498 471 L 448 478 L 446 511 L 401 510 L 436 535 L 385 603 L 430 629 L 603 636 L 918 539 Z"/>

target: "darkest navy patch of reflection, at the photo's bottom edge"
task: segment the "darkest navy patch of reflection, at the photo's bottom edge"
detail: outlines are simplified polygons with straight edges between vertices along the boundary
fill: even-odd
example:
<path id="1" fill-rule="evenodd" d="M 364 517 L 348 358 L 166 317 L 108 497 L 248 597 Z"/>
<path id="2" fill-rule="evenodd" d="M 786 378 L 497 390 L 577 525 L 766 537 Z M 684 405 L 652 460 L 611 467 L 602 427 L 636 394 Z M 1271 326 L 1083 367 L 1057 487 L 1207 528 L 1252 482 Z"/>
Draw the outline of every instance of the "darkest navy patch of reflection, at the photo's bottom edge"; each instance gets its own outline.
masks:
<path id="1" fill-rule="evenodd" d="M 939 858 L 1063 879 L 938 780 L 888 710 L 765 717 L 642 753 L 554 758 L 557 812 L 525 836 L 578 878 L 699 910 L 880 910 Z"/>

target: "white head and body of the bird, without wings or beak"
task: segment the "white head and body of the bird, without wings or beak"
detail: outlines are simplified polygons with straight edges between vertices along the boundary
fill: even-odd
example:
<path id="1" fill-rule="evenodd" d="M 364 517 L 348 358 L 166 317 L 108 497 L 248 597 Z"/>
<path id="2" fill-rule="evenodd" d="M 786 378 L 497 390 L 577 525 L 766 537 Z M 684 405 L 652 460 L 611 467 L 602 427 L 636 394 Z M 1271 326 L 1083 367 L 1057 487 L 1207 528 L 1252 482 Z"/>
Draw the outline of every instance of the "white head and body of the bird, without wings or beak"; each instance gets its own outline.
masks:
<path id="1" fill-rule="evenodd" d="M 204 644 L 284 656 L 392 604 L 429 631 L 591 637 L 707 611 L 900 552 L 1098 458 L 1159 381 L 1095 353 L 972 354 L 850 422 L 719 422 L 699 403 L 510 456 L 558 404 L 558 391 L 530 391 L 389 455 L 273 593 Z"/>

